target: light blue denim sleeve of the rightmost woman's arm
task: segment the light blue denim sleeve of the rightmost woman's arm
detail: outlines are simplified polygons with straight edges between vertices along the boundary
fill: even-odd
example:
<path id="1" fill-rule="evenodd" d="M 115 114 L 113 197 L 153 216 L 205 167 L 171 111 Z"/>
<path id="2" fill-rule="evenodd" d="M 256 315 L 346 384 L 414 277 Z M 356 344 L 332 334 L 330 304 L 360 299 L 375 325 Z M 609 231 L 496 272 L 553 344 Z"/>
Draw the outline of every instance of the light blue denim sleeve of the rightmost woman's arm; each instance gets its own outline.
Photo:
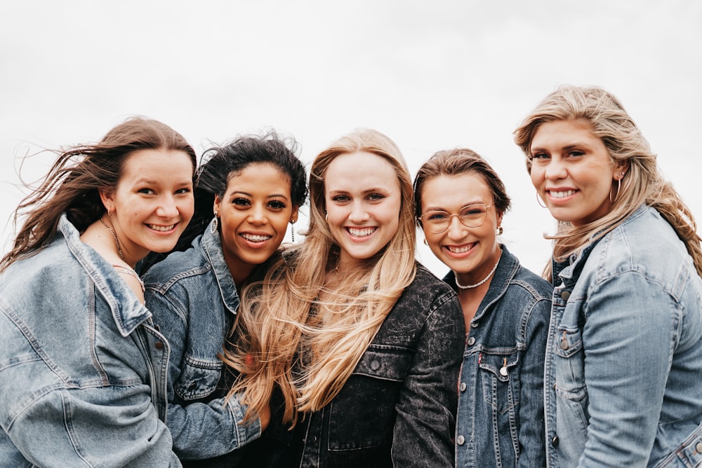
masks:
<path id="1" fill-rule="evenodd" d="M 580 465 L 644 467 L 670 370 L 677 306 L 636 272 L 597 284 L 588 299 L 583 350 L 590 421 Z"/>

